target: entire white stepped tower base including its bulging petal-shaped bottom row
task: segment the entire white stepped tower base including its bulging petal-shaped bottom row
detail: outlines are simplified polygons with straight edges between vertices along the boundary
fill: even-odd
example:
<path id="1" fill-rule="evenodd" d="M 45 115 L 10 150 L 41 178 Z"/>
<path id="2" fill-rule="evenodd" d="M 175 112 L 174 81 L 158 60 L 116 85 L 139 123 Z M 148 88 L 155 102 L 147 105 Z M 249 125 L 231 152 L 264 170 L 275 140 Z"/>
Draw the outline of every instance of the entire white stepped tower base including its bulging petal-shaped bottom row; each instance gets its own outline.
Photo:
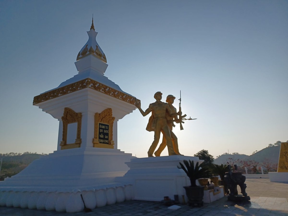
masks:
<path id="1" fill-rule="evenodd" d="M 0 182 L 0 206 L 79 212 L 133 198 L 129 183 L 117 183 L 131 154 L 118 149 L 75 148 L 55 151 Z"/>

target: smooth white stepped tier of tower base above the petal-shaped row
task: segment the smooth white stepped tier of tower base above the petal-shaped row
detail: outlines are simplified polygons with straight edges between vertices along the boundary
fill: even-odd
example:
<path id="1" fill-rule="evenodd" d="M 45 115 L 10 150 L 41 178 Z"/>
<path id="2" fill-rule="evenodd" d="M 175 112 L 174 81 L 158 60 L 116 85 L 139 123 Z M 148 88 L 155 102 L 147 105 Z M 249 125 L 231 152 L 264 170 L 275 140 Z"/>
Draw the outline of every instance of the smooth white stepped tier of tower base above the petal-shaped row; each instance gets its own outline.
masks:
<path id="1" fill-rule="evenodd" d="M 135 158 L 118 149 L 74 148 L 42 156 L 11 178 L 0 182 L 2 187 L 83 188 L 107 184 L 123 176 L 128 167 L 125 162 Z"/>

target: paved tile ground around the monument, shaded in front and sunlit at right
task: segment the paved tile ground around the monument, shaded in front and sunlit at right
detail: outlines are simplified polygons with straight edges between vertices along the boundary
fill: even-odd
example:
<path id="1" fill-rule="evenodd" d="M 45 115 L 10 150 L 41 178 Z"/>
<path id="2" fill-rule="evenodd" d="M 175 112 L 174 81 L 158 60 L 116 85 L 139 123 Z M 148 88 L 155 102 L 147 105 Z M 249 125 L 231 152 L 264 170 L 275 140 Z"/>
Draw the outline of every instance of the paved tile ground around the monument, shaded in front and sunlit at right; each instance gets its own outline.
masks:
<path id="1" fill-rule="evenodd" d="M 58 213 L 0 207 L 0 215 L 288 215 L 288 182 L 279 183 L 270 182 L 269 179 L 246 179 L 245 183 L 247 184 L 246 192 L 251 198 L 251 202 L 247 203 L 233 203 L 228 201 L 226 196 L 210 204 L 204 204 L 201 208 L 179 205 L 181 209 L 169 210 L 167 206 L 160 202 L 132 200 L 96 208 L 89 213 Z"/>

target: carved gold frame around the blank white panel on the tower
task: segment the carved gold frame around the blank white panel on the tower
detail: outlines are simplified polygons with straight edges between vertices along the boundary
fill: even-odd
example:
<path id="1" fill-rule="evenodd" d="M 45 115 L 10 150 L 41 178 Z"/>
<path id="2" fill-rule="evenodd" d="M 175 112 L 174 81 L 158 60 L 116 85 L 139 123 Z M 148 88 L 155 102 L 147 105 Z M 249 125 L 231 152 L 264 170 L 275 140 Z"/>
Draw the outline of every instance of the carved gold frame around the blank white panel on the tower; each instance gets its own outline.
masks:
<path id="1" fill-rule="evenodd" d="M 63 116 L 61 119 L 63 122 L 62 141 L 60 143 L 61 150 L 62 149 L 79 148 L 81 145 L 82 114 L 76 113 L 72 109 L 65 107 L 64 113 L 63 113 Z M 76 134 L 75 143 L 67 143 L 68 124 L 71 124 L 71 123 L 77 123 L 77 134 Z"/>

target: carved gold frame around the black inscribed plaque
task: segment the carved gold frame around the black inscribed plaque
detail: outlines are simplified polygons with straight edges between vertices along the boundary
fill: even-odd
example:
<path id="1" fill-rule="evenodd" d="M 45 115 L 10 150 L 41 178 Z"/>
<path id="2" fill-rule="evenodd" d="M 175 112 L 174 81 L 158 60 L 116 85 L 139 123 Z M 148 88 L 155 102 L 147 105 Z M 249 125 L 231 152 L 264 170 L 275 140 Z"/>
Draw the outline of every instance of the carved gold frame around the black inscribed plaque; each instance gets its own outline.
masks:
<path id="1" fill-rule="evenodd" d="M 114 141 L 113 141 L 113 124 L 114 124 L 115 117 L 112 116 L 112 109 L 108 108 L 103 110 L 101 113 L 95 113 L 94 115 L 94 139 L 93 139 L 93 147 L 96 148 L 114 148 Z M 109 124 L 109 144 L 101 144 L 99 143 L 98 139 L 98 123 L 105 123 Z"/>

